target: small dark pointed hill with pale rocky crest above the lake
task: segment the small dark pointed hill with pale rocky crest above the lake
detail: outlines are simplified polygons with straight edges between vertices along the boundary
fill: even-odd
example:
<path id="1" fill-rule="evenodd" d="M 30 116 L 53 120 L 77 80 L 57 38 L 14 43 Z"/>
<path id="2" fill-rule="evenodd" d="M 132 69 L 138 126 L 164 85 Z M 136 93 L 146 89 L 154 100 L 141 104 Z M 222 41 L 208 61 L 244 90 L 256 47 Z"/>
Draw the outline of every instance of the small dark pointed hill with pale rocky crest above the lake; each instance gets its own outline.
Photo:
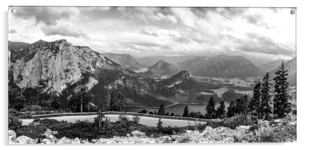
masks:
<path id="1" fill-rule="evenodd" d="M 196 81 L 186 70 L 180 71 L 170 78 L 159 81 L 158 88 L 177 89 L 186 92 L 210 91 L 206 84 Z"/>

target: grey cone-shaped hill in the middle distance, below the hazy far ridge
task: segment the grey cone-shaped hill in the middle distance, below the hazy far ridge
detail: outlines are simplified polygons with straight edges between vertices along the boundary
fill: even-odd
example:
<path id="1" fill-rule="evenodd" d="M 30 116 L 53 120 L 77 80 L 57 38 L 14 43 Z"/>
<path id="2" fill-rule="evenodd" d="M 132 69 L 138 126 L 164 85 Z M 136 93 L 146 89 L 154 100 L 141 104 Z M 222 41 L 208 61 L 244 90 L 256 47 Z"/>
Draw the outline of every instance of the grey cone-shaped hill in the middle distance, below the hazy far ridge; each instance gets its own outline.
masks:
<path id="1" fill-rule="evenodd" d="M 156 64 L 148 67 L 148 71 L 144 72 L 144 76 L 152 77 L 152 76 L 164 76 L 169 75 L 172 76 L 179 71 L 171 64 L 161 60 Z"/>

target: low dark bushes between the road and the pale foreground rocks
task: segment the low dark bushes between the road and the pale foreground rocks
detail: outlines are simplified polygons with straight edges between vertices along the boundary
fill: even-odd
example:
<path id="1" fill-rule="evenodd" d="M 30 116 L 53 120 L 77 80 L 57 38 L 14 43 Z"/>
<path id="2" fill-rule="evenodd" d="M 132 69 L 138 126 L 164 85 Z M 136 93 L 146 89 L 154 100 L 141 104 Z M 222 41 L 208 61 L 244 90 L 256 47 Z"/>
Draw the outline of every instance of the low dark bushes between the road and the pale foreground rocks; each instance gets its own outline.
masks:
<path id="1" fill-rule="evenodd" d="M 127 116 L 121 115 L 116 122 L 110 122 L 108 118 L 102 116 L 101 130 L 99 129 L 99 119 L 94 122 L 76 121 L 75 123 L 67 121 L 57 121 L 54 119 L 35 119 L 32 123 L 26 126 L 21 126 L 22 122 L 18 118 L 9 118 L 9 129 L 15 130 L 17 136 L 27 136 L 32 139 L 42 138 L 42 134 L 47 128 L 57 131 L 56 138 L 83 138 L 98 139 L 112 138 L 113 136 L 126 136 L 133 130 L 139 130 L 145 133 L 148 137 L 154 138 L 163 135 L 181 135 L 186 130 L 198 130 L 201 132 L 207 125 L 217 128 L 220 126 L 228 127 L 232 132 L 224 134 L 233 134 L 234 142 L 287 142 L 296 141 L 297 125 L 296 116 L 287 115 L 283 119 L 273 119 L 271 121 L 255 121 L 252 116 L 235 116 L 224 121 L 214 121 L 206 123 L 194 123 L 185 127 L 163 127 L 158 131 L 157 127 L 149 127 L 131 121 Z M 235 128 L 240 125 L 250 125 L 249 129 L 240 132 Z M 230 129 L 229 129 L 230 130 Z"/>

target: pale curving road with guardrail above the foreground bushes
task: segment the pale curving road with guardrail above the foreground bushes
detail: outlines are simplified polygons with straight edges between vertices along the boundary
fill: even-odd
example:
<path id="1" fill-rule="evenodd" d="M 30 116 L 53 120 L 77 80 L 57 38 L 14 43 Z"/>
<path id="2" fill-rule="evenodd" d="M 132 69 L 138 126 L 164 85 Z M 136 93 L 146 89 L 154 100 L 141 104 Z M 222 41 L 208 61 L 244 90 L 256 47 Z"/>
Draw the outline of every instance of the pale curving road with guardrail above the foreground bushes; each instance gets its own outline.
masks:
<path id="1" fill-rule="evenodd" d="M 48 119 L 55 119 L 58 121 L 65 120 L 68 122 L 75 122 L 77 120 L 89 120 L 90 122 L 94 121 L 94 117 L 98 115 L 86 115 L 86 116 L 61 116 L 61 117 L 50 117 Z M 105 115 L 106 117 L 110 118 L 110 121 L 115 122 L 118 120 L 119 115 Z M 132 116 L 127 115 L 130 119 Z M 42 118 L 43 119 L 43 118 Z M 23 125 L 28 125 L 33 121 L 33 119 L 21 119 L 23 121 Z M 145 117 L 141 116 L 140 124 L 147 125 L 147 126 L 157 126 L 159 118 L 153 118 L 153 117 Z M 188 120 L 178 120 L 178 119 L 165 119 L 162 118 L 161 121 L 163 122 L 164 127 L 166 126 L 188 126 L 188 125 L 194 125 L 196 123 L 199 123 L 200 121 L 188 121 Z M 205 123 L 205 122 L 201 122 Z"/>

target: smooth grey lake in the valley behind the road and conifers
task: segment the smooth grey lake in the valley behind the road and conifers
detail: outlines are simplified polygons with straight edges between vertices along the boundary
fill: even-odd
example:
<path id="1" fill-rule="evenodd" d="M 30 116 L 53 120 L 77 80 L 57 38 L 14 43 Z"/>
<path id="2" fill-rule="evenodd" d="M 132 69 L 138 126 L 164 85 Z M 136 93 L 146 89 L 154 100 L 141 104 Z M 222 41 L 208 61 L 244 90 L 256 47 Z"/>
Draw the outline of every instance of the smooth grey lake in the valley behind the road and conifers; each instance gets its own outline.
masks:
<path id="1" fill-rule="evenodd" d="M 191 111 L 200 111 L 201 114 L 206 114 L 206 105 L 207 104 L 190 104 L 190 103 L 177 103 L 177 104 L 173 104 L 173 105 L 169 105 L 165 107 L 165 112 L 166 113 L 174 113 L 175 115 L 180 115 L 182 116 L 183 114 L 183 110 L 185 108 L 185 106 L 188 106 L 189 109 L 189 113 Z M 216 102 L 216 108 L 219 107 L 219 102 Z M 229 102 L 225 102 L 225 110 L 227 110 L 227 107 L 229 106 Z M 138 113 L 139 111 L 142 111 L 143 109 L 147 109 L 148 112 L 152 111 L 154 112 L 154 110 L 156 110 L 158 112 L 159 108 L 156 107 L 138 107 L 138 106 L 129 106 L 126 107 L 126 111 L 130 112 L 130 113 Z"/>

